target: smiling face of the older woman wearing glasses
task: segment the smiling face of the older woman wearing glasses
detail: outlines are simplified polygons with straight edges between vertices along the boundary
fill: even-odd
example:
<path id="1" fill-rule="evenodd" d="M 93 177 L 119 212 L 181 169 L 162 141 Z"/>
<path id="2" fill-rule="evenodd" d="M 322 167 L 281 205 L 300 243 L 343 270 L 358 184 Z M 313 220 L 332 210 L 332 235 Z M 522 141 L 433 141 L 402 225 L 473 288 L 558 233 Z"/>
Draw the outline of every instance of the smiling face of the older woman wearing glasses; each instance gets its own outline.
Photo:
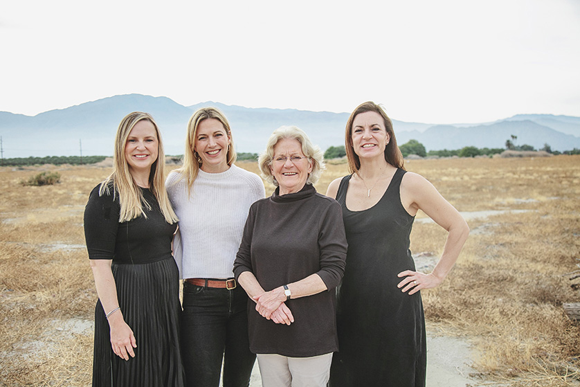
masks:
<path id="1" fill-rule="evenodd" d="M 302 153 L 302 145 L 294 138 L 282 138 L 274 145 L 274 156 L 270 170 L 278 186 L 280 195 L 300 191 L 312 172 L 312 161 Z"/>

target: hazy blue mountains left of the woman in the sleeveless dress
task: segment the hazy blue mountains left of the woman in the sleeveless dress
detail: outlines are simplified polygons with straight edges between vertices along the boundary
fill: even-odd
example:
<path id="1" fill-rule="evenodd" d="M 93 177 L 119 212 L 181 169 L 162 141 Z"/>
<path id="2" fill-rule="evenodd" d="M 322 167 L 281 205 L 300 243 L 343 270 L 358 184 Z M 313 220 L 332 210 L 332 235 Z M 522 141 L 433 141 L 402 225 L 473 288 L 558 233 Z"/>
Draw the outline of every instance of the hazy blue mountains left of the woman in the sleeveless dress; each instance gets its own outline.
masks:
<path id="1" fill-rule="evenodd" d="M 4 157 L 72 156 L 113 153 L 120 120 L 131 111 L 147 111 L 155 118 L 166 154 L 183 154 L 187 124 L 199 107 L 224 111 L 232 127 L 238 152 L 262 152 L 268 136 L 281 125 L 304 129 L 321 148 L 343 143 L 348 114 L 296 109 L 251 109 L 203 102 L 190 107 L 165 97 L 129 94 L 103 98 L 81 105 L 24 116 L 0 111 L 0 135 Z"/>

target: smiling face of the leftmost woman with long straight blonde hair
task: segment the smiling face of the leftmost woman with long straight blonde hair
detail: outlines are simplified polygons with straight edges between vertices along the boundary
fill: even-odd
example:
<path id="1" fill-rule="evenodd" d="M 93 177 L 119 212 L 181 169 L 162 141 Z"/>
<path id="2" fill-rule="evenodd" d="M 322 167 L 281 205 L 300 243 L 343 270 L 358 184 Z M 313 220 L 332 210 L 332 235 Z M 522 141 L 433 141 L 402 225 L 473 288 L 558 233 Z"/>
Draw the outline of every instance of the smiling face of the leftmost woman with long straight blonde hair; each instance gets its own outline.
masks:
<path id="1" fill-rule="evenodd" d="M 135 124 L 125 143 L 125 159 L 129 172 L 151 171 L 151 165 L 157 160 L 159 141 L 155 126 L 149 120 L 140 120 Z"/>

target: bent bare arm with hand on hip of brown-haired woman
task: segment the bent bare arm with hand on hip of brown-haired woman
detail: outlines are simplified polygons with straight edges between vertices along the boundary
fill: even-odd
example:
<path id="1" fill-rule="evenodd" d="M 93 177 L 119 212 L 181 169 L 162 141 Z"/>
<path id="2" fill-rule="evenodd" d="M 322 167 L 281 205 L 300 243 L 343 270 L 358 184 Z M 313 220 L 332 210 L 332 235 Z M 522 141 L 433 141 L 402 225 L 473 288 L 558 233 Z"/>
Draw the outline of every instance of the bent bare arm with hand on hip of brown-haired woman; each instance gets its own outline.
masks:
<path id="1" fill-rule="evenodd" d="M 469 226 L 460 213 L 446 201 L 424 177 L 408 172 L 401 182 L 401 202 L 410 213 L 415 215 L 417 210 L 422 210 L 428 217 L 447 232 L 447 239 L 443 253 L 429 274 L 406 270 L 399 273 L 404 278 L 399 282 L 402 291 L 415 294 L 421 289 L 431 289 L 439 285 L 447 276 L 457 261 L 467 236 Z"/>

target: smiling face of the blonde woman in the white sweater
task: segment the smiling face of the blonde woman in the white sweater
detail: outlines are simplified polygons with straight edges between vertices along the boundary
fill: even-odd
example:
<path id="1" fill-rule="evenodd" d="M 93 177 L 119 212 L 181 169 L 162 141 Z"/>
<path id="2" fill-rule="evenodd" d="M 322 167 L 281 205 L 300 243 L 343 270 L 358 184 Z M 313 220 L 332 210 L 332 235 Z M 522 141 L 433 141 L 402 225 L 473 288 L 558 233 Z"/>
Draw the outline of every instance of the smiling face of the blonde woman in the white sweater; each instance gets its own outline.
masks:
<path id="1" fill-rule="evenodd" d="M 193 150 L 201 158 L 201 170 L 219 173 L 228 170 L 230 136 L 224 125 L 215 118 L 207 118 L 197 125 Z"/>

